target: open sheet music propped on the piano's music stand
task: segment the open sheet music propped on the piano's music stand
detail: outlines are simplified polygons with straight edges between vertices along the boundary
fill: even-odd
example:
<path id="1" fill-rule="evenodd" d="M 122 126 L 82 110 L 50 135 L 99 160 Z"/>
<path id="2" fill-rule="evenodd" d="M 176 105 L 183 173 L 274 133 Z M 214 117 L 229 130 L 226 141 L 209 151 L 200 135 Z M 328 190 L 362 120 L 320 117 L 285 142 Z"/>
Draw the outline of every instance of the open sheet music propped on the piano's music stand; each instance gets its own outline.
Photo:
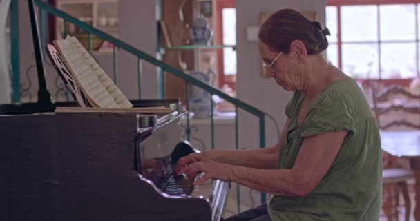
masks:
<path id="1" fill-rule="evenodd" d="M 75 37 L 55 41 L 88 97 L 101 108 L 130 108 L 131 102 Z"/>

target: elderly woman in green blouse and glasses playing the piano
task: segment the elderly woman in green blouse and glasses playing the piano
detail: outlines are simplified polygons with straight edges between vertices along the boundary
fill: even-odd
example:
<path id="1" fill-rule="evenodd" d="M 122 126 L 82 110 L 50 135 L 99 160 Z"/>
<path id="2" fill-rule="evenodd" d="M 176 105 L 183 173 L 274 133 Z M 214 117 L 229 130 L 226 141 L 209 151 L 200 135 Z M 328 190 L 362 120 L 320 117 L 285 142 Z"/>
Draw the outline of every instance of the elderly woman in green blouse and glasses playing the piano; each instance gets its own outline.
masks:
<path id="1" fill-rule="evenodd" d="M 275 146 L 179 160 L 178 173 L 204 172 L 196 184 L 220 179 L 274 195 L 227 220 L 379 220 L 379 131 L 356 81 L 321 55 L 328 34 L 294 10 L 279 10 L 260 28 L 269 76 L 294 91 Z"/>

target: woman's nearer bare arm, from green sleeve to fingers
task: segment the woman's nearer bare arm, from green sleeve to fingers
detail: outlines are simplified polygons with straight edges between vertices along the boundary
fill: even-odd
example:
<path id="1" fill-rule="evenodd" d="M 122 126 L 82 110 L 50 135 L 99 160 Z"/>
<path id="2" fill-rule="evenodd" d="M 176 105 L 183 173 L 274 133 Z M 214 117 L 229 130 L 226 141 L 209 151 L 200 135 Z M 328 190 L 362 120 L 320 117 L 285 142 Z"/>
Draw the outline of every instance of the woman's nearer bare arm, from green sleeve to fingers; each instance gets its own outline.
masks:
<path id="1" fill-rule="evenodd" d="M 305 138 L 292 169 L 251 169 L 204 161 L 191 164 L 183 172 L 193 176 L 204 171 L 196 184 L 214 178 L 274 195 L 305 196 L 327 173 L 346 135 L 347 131 L 338 131 Z"/>

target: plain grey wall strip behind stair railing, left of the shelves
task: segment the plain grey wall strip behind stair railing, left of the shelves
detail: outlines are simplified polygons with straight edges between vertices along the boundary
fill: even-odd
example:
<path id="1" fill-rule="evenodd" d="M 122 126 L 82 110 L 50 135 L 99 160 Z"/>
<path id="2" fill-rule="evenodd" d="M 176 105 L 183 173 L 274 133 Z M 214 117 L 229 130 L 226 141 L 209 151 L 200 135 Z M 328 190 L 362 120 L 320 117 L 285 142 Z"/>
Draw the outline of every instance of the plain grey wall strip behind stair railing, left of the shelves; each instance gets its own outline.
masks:
<path id="1" fill-rule="evenodd" d="M 156 55 L 156 8 L 155 0 L 120 0 L 120 39 L 151 56 Z M 137 58 L 122 53 L 118 70 L 122 92 L 128 99 L 137 99 Z M 142 99 L 156 99 L 157 81 L 155 66 L 143 62 Z"/>

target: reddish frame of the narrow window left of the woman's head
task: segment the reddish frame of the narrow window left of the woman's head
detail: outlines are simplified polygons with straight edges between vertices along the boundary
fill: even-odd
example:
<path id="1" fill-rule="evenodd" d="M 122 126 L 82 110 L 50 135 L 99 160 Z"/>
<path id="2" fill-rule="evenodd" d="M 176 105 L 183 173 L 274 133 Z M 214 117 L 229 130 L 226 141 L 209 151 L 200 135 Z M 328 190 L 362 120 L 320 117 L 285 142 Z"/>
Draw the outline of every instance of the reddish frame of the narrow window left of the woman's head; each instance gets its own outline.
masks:
<path id="1" fill-rule="evenodd" d="M 214 44 L 222 45 L 223 44 L 223 23 L 222 23 L 222 10 L 224 8 L 235 8 L 235 0 L 216 0 L 214 1 L 215 10 L 215 35 L 214 35 Z M 236 90 L 236 74 L 235 75 L 225 75 L 225 67 L 223 64 L 223 49 L 220 48 L 217 52 L 217 71 L 218 71 L 218 87 L 221 88 L 224 84 L 227 84 L 233 90 Z"/>

